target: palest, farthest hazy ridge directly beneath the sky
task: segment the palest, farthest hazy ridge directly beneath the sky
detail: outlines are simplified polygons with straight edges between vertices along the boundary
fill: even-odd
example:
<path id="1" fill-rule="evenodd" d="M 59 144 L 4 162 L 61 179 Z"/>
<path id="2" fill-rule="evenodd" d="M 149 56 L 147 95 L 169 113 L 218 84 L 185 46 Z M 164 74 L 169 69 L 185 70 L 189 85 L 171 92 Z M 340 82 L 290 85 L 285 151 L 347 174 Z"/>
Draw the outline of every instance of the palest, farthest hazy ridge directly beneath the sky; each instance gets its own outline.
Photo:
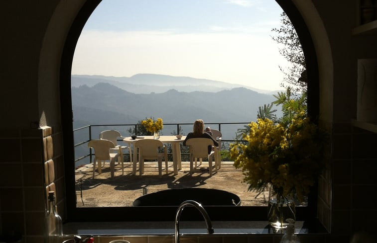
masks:
<path id="1" fill-rule="evenodd" d="M 151 92 L 162 93 L 169 89 L 176 89 L 177 91 L 182 92 L 218 92 L 224 89 L 232 89 L 236 87 L 246 87 L 259 93 L 276 93 L 276 91 L 257 89 L 242 84 L 156 74 L 137 74 L 129 78 L 99 75 L 72 75 L 71 85 L 72 87 L 79 87 L 80 85 L 88 85 L 91 87 L 99 82 L 110 83 L 128 92 L 136 94 Z"/>

